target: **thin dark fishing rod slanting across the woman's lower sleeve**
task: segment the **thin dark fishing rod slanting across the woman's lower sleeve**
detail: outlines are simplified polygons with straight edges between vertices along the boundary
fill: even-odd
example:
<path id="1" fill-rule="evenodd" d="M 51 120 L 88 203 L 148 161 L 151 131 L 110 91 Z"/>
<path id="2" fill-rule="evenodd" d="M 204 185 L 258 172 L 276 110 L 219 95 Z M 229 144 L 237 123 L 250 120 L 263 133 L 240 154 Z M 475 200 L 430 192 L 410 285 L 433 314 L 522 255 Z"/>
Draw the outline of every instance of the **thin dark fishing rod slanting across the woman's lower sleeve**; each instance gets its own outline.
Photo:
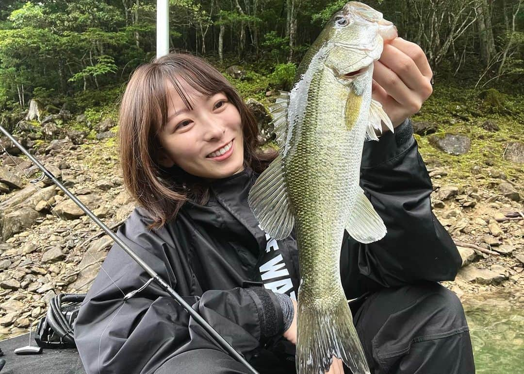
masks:
<path id="1" fill-rule="evenodd" d="M 144 286 L 148 285 L 151 281 L 155 281 L 162 288 L 162 290 L 169 293 L 174 298 L 174 300 L 176 300 L 177 303 L 181 305 L 209 335 L 211 335 L 211 337 L 215 340 L 215 343 L 219 345 L 219 347 L 227 351 L 237 361 L 242 362 L 242 364 L 244 364 L 250 372 L 252 372 L 253 374 L 258 374 L 258 371 L 256 371 L 249 364 L 249 362 L 246 361 L 244 356 L 242 356 L 235 348 L 233 348 L 231 344 L 227 343 L 227 341 L 219 333 L 217 333 L 216 330 L 208 322 L 206 322 L 206 320 L 202 318 L 200 314 L 198 314 L 198 312 L 194 311 L 191 305 L 185 302 L 183 298 L 160 277 L 160 275 L 158 275 L 153 269 L 151 269 L 150 266 L 144 262 L 144 260 L 142 260 L 131 248 L 128 247 L 126 243 L 122 241 L 122 239 L 118 238 L 118 236 L 116 236 L 116 234 L 112 230 L 110 230 L 110 228 L 108 228 L 104 222 L 102 222 L 98 217 L 96 217 L 94 213 L 82 203 L 82 201 L 80 201 L 76 196 L 74 196 L 71 193 L 71 191 L 67 189 L 67 187 L 62 185 L 60 181 L 51 172 L 49 172 L 49 170 L 46 169 L 45 166 L 40 164 L 40 162 L 33 155 L 31 155 L 29 151 L 27 151 L 27 149 L 24 148 L 23 145 L 18 143 L 18 141 L 13 137 L 13 135 L 11 135 L 6 129 L 4 129 L 2 125 L 0 125 L 0 131 L 2 131 L 9 138 L 9 140 L 12 141 L 13 144 L 16 145 L 20 149 L 20 151 L 22 151 L 31 160 L 32 163 L 34 163 L 40 170 L 42 170 L 43 174 L 46 177 L 51 179 L 55 185 L 57 185 L 62 191 L 64 191 L 65 195 L 67 195 L 71 200 L 73 200 L 74 203 L 77 204 L 79 208 L 82 209 L 85 212 L 85 214 L 88 215 L 89 218 L 91 218 L 96 223 L 96 225 L 98 225 L 102 230 L 104 230 L 111 237 L 111 239 L 115 241 L 115 243 L 117 243 L 133 260 L 135 260 L 135 262 L 138 265 L 140 265 L 142 269 L 144 269 L 149 274 L 151 279 Z M 125 295 L 124 300 L 126 300 L 127 297 L 134 295 L 134 293 L 136 292 L 134 291 L 133 293 Z"/>

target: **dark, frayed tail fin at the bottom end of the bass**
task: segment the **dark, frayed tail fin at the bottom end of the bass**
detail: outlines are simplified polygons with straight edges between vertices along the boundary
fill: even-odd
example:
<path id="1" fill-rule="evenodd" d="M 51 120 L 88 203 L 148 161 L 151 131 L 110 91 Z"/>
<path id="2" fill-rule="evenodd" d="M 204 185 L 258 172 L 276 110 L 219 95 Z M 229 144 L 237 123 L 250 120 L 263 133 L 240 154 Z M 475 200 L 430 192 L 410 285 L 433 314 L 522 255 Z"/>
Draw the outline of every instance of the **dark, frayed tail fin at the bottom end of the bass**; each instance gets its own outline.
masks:
<path id="1" fill-rule="evenodd" d="M 369 374 L 364 350 L 358 338 L 345 297 L 326 309 L 298 304 L 297 373 L 324 374 L 332 357 L 342 359 L 354 374 Z"/>

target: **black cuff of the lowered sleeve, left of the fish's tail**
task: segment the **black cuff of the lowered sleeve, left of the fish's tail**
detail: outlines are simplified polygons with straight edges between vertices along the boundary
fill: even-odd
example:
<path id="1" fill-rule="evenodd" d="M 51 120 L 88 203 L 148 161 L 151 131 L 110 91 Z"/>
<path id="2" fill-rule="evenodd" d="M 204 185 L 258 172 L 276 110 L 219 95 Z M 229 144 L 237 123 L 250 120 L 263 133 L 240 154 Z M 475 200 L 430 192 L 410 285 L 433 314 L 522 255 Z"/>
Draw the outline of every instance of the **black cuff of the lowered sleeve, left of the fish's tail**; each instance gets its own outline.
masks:
<path id="1" fill-rule="evenodd" d="M 253 298 L 260 320 L 260 335 L 269 338 L 284 333 L 284 317 L 277 296 L 264 287 L 245 288 Z"/>

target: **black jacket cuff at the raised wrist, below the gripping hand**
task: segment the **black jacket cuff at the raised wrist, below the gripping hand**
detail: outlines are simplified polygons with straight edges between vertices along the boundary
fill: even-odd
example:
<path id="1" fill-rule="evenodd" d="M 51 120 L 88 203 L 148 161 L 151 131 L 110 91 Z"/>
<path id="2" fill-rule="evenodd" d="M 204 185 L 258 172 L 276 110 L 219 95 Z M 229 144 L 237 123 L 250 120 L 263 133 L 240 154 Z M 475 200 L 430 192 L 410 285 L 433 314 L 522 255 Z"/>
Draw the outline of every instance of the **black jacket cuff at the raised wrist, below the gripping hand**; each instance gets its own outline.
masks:
<path id="1" fill-rule="evenodd" d="M 413 126 L 411 120 L 398 125 L 395 133 L 387 131 L 381 135 L 379 141 L 368 141 L 364 143 L 362 150 L 361 168 L 372 168 L 394 159 L 414 142 Z"/>

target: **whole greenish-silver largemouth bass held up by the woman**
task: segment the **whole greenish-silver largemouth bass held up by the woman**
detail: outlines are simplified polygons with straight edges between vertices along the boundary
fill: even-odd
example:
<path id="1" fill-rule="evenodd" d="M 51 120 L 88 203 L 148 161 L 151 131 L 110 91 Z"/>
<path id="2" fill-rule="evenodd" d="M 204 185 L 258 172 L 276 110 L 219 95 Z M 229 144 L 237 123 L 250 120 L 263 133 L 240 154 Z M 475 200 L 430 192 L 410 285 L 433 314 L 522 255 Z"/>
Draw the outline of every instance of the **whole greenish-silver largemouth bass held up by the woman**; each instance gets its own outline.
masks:
<path id="1" fill-rule="evenodd" d="M 301 62 L 291 92 L 270 110 L 279 156 L 260 175 L 248 202 L 271 237 L 293 227 L 299 249 L 297 372 L 327 371 L 333 356 L 354 374 L 369 373 L 340 277 L 344 229 L 357 241 L 383 238 L 386 227 L 359 187 L 365 140 L 383 121 L 372 100 L 373 62 L 395 26 L 369 6 L 335 13 Z"/>

